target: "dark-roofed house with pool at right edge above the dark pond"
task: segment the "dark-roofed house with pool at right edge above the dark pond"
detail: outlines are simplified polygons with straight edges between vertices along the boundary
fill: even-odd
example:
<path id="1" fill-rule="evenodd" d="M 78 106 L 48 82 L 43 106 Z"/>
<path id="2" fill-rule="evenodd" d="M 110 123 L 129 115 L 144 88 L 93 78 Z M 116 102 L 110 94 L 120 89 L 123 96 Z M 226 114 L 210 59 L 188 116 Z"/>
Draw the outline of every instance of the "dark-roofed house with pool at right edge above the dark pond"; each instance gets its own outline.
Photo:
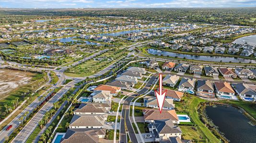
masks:
<path id="1" fill-rule="evenodd" d="M 245 100 L 255 98 L 256 99 L 256 91 L 252 89 L 250 85 L 244 83 L 232 83 L 231 84 L 235 92 Z M 253 85 L 252 85 L 253 86 Z"/>

